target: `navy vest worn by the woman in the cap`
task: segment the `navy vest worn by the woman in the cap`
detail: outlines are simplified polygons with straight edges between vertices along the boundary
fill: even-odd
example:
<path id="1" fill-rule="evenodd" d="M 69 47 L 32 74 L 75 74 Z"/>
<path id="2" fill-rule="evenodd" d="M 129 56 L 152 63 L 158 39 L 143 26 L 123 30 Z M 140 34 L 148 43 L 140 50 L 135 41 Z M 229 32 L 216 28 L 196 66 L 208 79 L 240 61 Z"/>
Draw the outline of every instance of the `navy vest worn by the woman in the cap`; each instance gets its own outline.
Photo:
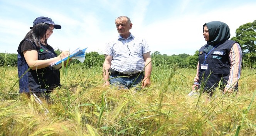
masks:
<path id="1" fill-rule="evenodd" d="M 61 86 L 59 70 L 54 70 L 51 66 L 38 70 L 29 69 L 24 55 L 20 51 L 20 47 L 25 40 L 20 42 L 18 48 L 19 93 L 51 91 L 57 86 Z M 35 43 L 32 43 L 32 45 L 37 48 L 38 60 L 46 60 L 57 56 L 51 46 L 47 48 L 46 46 L 38 47 Z"/>

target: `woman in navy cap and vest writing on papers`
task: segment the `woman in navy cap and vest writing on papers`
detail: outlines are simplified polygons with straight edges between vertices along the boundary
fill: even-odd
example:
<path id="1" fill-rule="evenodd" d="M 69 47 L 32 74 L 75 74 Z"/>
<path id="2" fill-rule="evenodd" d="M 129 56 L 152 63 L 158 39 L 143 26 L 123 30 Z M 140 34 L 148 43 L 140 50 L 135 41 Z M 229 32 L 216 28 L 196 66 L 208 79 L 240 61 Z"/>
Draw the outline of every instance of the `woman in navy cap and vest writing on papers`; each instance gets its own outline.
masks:
<path id="1" fill-rule="evenodd" d="M 49 93 L 57 86 L 61 86 L 60 72 L 50 65 L 69 55 L 63 51 L 59 56 L 48 45 L 47 39 L 52 35 L 54 28 L 61 29 L 51 18 L 38 17 L 33 22 L 33 27 L 27 33 L 18 48 L 18 75 L 19 93 L 34 95 L 39 103 L 39 98 L 49 101 Z"/>

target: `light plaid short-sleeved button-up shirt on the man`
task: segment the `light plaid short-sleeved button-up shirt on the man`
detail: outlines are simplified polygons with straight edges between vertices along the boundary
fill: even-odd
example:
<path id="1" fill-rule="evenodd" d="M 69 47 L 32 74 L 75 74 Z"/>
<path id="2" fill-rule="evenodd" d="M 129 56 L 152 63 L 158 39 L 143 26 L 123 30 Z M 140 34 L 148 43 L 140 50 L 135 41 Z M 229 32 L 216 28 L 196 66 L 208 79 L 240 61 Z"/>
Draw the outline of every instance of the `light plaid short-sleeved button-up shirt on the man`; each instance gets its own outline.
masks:
<path id="1" fill-rule="evenodd" d="M 113 56 L 111 68 L 123 74 L 136 74 L 144 71 L 143 54 L 150 52 L 145 39 L 130 34 L 125 40 L 121 35 L 106 43 L 105 55 Z"/>

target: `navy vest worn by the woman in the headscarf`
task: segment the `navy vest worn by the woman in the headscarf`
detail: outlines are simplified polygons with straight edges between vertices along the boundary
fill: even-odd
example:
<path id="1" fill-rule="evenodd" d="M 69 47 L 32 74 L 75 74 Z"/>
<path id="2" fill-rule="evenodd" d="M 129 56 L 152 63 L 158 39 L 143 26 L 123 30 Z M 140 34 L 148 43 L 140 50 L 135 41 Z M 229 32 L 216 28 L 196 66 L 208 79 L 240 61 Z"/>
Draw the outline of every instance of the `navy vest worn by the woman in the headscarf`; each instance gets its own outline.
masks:
<path id="1" fill-rule="evenodd" d="M 202 46 L 199 50 L 199 84 L 204 91 L 211 92 L 214 90 L 221 81 L 221 87 L 223 88 L 229 80 L 230 73 L 230 61 L 229 52 L 232 45 L 236 41 L 226 40 L 224 43 L 215 46 L 215 48 L 209 53 L 205 60 L 205 52 L 203 51 L 206 45 Z M 202 70 L 201 65 L 208 64 L 207 70 Z"/>

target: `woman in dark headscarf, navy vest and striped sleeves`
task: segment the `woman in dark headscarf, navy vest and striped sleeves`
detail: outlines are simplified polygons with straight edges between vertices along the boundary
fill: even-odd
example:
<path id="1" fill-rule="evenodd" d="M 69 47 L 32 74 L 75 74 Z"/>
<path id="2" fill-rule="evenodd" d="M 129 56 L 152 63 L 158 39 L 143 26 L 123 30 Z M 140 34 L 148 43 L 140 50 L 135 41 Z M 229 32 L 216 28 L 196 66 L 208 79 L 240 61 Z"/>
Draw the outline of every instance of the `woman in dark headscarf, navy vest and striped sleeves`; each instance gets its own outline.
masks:
<path id="1" fill-rule="evenodd" d="M 202 88 L 210 96 L 219 85 L 223 93 L 238 91 L 242 50 L 238 42 L 228 40 L 228 25 L 220 21 L 205 23 L 203 35 L 207 43 L 199 50 L 192 90 Z"/>

